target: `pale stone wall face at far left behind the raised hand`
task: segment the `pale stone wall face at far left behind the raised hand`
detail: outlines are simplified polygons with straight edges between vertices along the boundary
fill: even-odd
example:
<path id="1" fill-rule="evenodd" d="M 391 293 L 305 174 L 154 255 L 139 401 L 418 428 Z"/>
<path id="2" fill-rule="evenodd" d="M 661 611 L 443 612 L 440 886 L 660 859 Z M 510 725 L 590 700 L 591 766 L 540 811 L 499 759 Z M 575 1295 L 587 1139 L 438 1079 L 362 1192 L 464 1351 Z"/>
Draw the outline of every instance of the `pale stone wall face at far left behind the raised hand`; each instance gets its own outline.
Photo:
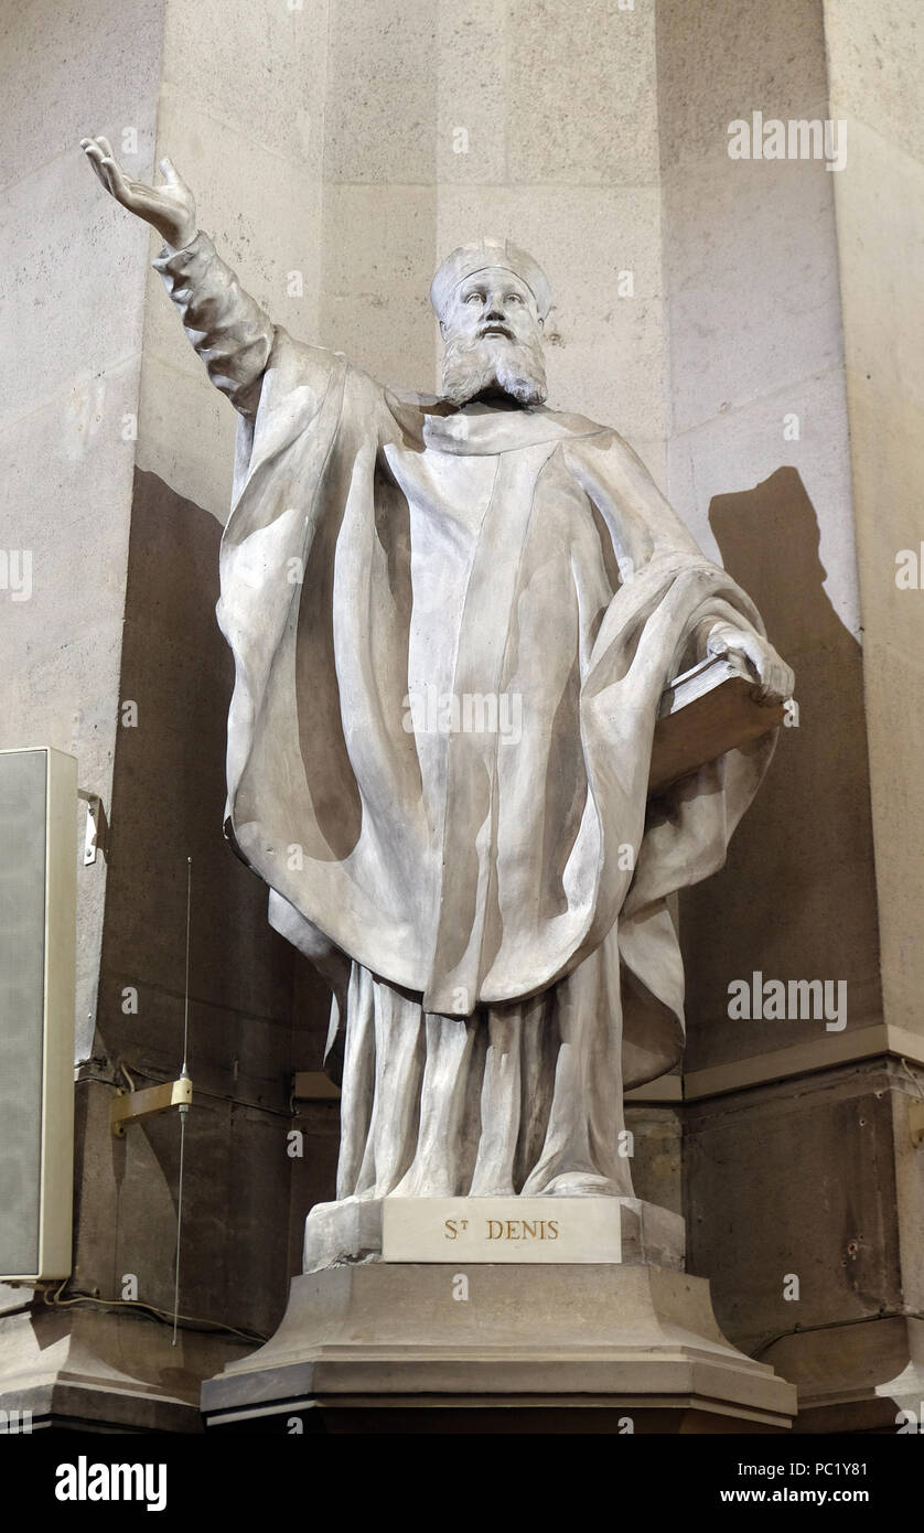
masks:
<path id="1" fill-rule="evenodd" d="M 130 126 L 132 162 L 152 173 L 161 3 L 8 8 L 0 78 L 0 547 L 32 564 L 28 601 L 0 592 L 0 747 L 69 751 L 81 786 L 109 805 L 147 231 L 100 201 L 78 144 L 98 130 L 121 146 Z M 80 1058 L 92 1047 L 104 897 L 98 860 L 80 883 Z"/>

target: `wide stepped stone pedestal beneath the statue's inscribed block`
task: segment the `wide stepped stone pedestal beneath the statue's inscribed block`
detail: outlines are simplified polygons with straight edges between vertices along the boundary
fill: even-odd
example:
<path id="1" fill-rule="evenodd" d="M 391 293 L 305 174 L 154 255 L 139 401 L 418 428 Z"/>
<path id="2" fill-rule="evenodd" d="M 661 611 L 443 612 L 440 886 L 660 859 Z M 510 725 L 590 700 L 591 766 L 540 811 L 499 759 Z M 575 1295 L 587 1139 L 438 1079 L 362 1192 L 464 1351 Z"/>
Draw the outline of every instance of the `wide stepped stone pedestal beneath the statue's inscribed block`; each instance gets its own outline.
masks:
<path id="1" fill-rule="evenodd" d="M 202 1410 L 276 1432 L 774 1432 L 795 1389 L 725 1340 L 700 1277 L 369 1262 L 293 1279 L 273 1340 Z"/>

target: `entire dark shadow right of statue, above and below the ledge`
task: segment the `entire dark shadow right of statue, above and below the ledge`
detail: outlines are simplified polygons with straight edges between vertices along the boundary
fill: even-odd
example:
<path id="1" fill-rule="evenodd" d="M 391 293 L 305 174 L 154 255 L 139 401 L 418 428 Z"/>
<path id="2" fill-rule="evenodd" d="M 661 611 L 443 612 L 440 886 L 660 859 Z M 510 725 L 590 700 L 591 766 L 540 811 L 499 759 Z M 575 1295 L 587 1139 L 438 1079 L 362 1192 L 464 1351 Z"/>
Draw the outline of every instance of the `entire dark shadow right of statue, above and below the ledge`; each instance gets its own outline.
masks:
<path id="1" fill-rule="evenodd" d="M 688 1073 L 835 1039 L 824 1019 L 729 1019 L 729 981 L 757 970 L 844 981 L 846 1029 L 881 1021 L 861 648 L 824 590 L 815 510 L 795 469 L 783 468 L 752 491 L 716 497 L 709 523 L 725 567 L 795 671 L 800 722 L 780 730 L 725 869 L 680 904 Z M 688 1271 L 709 1277 L 729 1340 L 809 1395 L 823 1380 L 837 1400 L 840 1383 L 854 1390 L 858 1377 L 872 1392 L 904 1366 L 901 1335 L 854 1325 L 901 1305 L 887 1085 L 870 1059 L 685 1110 Z M 792 1305 L 785 1275 L 800 1272 Z M 838 1325 L 850 1329 L 831 1329 Z M 881 1429 L 890 1410 L 864 1404 L 850 1426 Z"/>

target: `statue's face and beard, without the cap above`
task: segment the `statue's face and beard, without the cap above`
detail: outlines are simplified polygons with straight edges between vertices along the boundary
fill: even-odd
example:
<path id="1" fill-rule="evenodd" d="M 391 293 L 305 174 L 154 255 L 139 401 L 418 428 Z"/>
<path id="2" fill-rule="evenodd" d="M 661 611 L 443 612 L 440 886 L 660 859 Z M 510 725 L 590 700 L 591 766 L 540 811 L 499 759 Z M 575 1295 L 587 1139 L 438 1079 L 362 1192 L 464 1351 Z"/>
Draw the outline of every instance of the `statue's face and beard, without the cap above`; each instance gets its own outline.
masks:
<path id="1" fill-rule="evenodd" d="M 542 320 L 526 282 L 489 267 L 460 282 L 440 320 L 446 342 L 443 392 L 454 405 L 507 396 L 519 405 L 546 399 Z"/>

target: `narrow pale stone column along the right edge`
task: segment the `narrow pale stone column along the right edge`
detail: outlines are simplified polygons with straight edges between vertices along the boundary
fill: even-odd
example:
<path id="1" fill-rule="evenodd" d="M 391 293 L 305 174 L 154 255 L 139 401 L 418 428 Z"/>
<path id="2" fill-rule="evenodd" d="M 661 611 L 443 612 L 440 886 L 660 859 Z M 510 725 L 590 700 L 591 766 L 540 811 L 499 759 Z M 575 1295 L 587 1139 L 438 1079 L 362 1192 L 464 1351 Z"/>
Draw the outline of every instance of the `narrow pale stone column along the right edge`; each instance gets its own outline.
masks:
<path id="1" fill-rule="evenodd" d="M 849 162 L 835 181 L 864 699 L 890 1041 L 884 1177 L 893 1318 L 875 1358 L 883 1416 L 924 1390 L 924 78 L 913 0 L 824 5 L 831 115 Z M 915 578 L 916 576 L 916 578 Z M 869 1151 L 867 1151 L 869 1157 Z M 869 1328 L 875 1334 L 875 1328 Z M 869 1375 L 867 1375 L 869 1377 Z"/>

